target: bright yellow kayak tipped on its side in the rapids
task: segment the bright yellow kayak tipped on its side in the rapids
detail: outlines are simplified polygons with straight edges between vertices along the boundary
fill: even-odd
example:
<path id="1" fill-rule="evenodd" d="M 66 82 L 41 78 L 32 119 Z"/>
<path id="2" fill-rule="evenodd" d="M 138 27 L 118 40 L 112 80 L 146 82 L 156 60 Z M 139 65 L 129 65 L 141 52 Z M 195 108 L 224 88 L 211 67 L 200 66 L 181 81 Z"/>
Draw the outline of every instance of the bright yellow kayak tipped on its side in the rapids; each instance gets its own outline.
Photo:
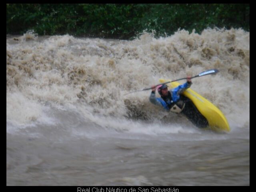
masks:
<path id="1" fill-rule="evenodd" d="M 160 79 L 160 83 L 168 82 L 171 80 Z M 178 82 L 168 83 L 167 86 L 169 89 L 175 88 L 179 86 Z M 193 91 L 191 88 L 185 90 L 182 95 L 189 98 L 194 106 L 196 106 L 197 110 L 206 118 L 208 121 L 208 127 L 214 131 L 224 131 L 229 132 L 230 127 L 228 121 L 224 114 L 218 109 L 214 104 L 212 104 L 209 100 Z"/>

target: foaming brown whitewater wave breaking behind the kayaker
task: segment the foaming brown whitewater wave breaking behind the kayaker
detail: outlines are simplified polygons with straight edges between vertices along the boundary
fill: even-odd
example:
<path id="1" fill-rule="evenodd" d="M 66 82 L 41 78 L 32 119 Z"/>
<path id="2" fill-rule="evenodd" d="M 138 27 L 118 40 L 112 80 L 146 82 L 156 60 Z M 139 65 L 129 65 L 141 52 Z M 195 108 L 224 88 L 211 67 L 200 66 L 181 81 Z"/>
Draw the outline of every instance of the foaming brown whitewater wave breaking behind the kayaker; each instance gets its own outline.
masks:
<path id="1" fill-rule="evenodd" d="M 194 78 L 191 88 L 220 108 L 232 124 L 248 124 L 250 32 L 242 29 L 208 28 L 201 34 L 178 30 L 160 38 L 144 32 L 131 41 L 37 36 L 31 31 L 8 36 L 6 122 L 51 122 L 46 112 L 50 107 L 74 110 L 90 121 L 98 116 L 116 123 L 175 123 L 176 114 L 149 102 L 150 91 L 126 93 L 158 84 L 160 78 L 174 80 L 211 68 L 220 72 Z"/>

